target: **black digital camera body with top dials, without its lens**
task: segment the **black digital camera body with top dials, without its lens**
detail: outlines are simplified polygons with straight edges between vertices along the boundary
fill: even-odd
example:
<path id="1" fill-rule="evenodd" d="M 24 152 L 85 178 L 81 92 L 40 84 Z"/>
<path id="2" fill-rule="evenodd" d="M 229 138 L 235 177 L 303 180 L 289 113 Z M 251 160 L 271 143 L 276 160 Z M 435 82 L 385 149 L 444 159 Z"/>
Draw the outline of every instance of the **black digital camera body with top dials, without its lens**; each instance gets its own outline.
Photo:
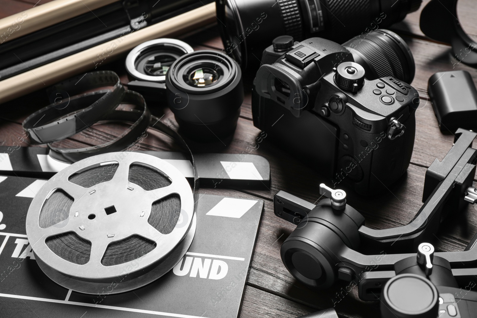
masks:
<path id="1" fill-rule="evenodd" d="M 254 125 L 333 187 L 372 195 L 392 185 L 411 160 L 417 91 L 394 76 L 366 79 L 369 72 L 354 62 L 352 50 L 336 42 L 292 44 L 263 52 L 252 95 Z"/>

